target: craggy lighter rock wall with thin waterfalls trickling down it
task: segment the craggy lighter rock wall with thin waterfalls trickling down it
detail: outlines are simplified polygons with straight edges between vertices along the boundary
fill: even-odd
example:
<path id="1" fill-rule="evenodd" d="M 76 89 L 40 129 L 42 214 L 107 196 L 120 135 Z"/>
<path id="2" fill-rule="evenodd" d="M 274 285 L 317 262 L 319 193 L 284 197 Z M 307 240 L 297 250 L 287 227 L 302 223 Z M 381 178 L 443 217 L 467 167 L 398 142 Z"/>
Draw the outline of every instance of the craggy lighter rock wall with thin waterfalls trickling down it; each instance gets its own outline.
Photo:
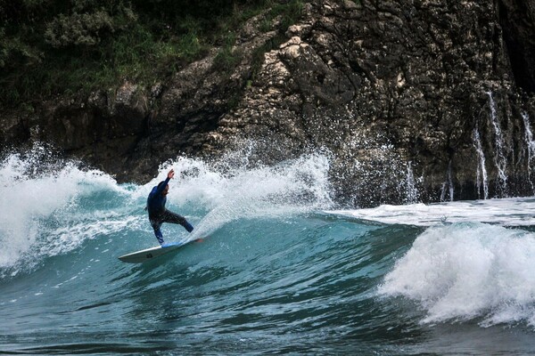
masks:
<path id="1" fill-rule="evenodd" d="M 516 27 L 526 54 L 513 69 L 500 22 L 507 6 L 519 11 L 493 2 L 309 4 L 218 134 L 269 136 L 259 146 L 269 157 L 327 148 L 340 197 L 359 206 L 532 195 L 533 21 Z"/>

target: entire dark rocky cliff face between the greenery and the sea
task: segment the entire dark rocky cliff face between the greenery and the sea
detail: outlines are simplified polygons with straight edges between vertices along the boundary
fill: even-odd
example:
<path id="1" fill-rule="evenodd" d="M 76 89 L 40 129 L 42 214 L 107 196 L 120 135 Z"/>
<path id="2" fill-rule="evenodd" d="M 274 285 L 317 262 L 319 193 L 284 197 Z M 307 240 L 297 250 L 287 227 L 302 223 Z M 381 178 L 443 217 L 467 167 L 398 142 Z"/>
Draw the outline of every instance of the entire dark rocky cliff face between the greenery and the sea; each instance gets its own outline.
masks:
<path id="1" fill-rule="evenodd" d="M 5 114 L 3 143 L 56 142 L 138 181 L 179 152 L 250 140 L 272 163 L 321 149 L 339 198 L 359 206 L 533 195 L 530 0 L 313 1 L 284 39 L 261 23 L 239 34 L 232 68 L 214 51 L 152 88 Z"/>

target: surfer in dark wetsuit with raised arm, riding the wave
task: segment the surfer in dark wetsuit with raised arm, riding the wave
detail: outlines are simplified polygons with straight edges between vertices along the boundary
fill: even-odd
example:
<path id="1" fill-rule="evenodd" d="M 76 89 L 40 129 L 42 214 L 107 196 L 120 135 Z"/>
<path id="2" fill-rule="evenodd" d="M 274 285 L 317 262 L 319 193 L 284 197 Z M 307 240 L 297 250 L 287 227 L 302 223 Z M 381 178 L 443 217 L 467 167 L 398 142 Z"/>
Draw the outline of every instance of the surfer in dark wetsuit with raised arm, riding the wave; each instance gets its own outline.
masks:
<path id="1" fill-rule="evenodd" d="M 171 169 L 168 173 L 168 177 L 165 181 L 158 183 L 158 185 L 152 188 L 149 198 L 147 198 L 146 210 L 149 212 L 149 221 L 151 222 L 152 229 L 154 229 L 154 235 L 156 239 L 163 245 L 163 235 L 161 234 L 162 223 L 179 223 L 184 226 L 188 232 L 193 231 L 193 226 L 185 220 L 184 216 L 170 212 L 165 208 L 167 201 L 167 194 L 169 191 L 169 181 L 175 176 L 175 171 Z"/>

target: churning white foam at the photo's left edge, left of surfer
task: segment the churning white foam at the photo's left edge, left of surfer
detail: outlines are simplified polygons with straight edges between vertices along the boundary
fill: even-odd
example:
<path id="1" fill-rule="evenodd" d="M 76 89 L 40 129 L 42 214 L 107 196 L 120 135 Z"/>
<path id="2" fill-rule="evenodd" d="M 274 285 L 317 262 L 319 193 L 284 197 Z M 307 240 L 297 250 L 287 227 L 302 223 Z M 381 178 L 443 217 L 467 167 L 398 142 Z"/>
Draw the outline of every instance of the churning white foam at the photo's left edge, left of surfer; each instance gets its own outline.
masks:
<path id="1" fill-rule="evenodd" d="M 46 170 L 46 154 L 36 147 L 26 158 L 13 154 L 0 163 L 0 268 L 12 267 L 23 255 L 36 259 L 39 240 L 50 230 L 44 222 L 76 214 L 80 196 L 120 190 L 109 175 L 82 171 L 71 162 Z"/>

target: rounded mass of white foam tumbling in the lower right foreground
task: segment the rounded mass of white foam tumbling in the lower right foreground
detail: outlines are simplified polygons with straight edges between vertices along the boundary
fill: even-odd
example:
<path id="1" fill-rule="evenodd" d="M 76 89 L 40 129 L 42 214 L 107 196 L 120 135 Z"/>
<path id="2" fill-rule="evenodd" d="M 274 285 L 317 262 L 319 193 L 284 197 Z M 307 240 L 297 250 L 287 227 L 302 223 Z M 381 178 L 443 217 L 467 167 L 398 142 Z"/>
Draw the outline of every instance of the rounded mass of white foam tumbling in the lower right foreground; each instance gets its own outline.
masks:
<path id="1" fill-rule="evenodd" d="M 424 323 L 523 321 L 535 327 L 535 234 L 481 223 L 432 227 L 379 288 L 422 305 Z"/>

